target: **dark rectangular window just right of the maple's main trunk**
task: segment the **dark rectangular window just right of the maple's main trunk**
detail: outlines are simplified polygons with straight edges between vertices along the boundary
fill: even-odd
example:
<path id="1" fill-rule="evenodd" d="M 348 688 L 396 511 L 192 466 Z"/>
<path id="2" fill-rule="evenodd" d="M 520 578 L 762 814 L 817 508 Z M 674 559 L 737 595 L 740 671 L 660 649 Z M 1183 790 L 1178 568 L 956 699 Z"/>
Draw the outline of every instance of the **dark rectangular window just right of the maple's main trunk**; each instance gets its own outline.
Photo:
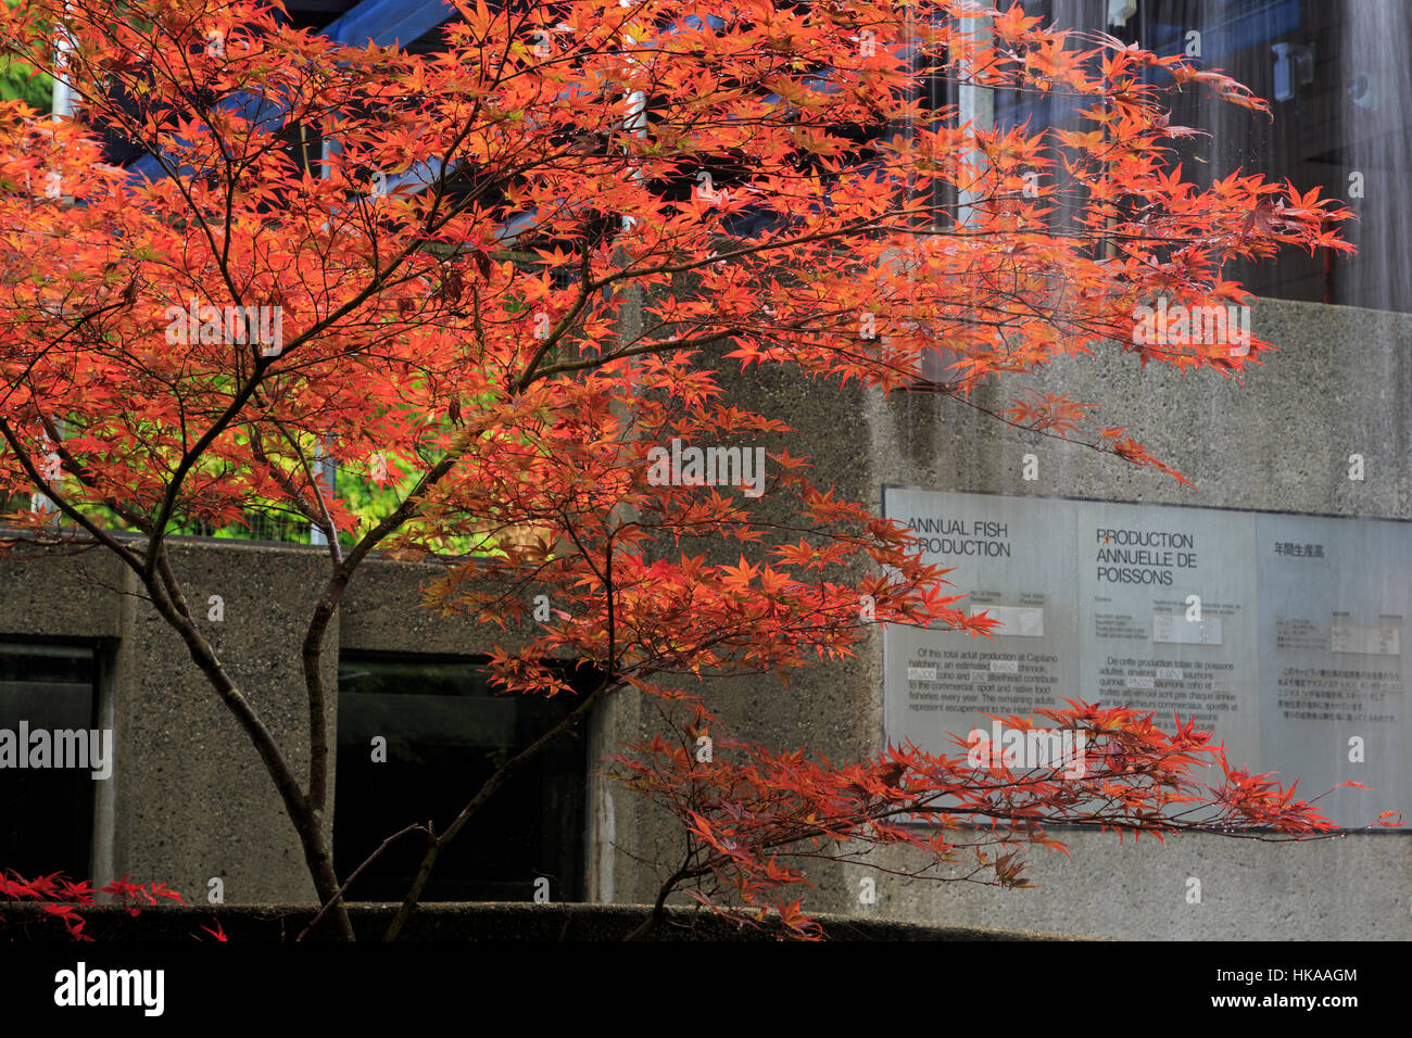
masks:
<path id="1" fill-rule="evenodd" d="M 507 760 L 579 702 L 497 695 L 474 660 L 345 655 L 339 661 L 339 757 L 333 857 L 347 876 L 393 833 L 452 823 Z M 385 739 L 385 761 L 374 740 Z M 528 901 L 549 880 L 554 901 L 582 898 L 586 732 L 561 736 L 514 772 L 436 863 L 424 901 Z M 425 852 L 404 836 L 349 888 L 356 901 L 401 898 Z"/>

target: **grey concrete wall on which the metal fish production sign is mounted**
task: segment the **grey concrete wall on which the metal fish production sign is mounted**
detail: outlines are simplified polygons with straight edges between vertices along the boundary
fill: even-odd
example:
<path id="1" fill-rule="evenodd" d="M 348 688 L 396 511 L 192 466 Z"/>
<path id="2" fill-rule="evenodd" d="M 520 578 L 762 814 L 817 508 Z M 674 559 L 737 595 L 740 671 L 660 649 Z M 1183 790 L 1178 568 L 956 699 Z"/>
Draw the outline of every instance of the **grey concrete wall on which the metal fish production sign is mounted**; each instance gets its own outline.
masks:
<path id="1" fill-rule="evenodd" d="M 1206 507 L 1278 508 L 1339 515 L 1412 517 L 1412 316 L 1315 304 L 1262 302 L 1255 336 L 1282 352 L 1244 377 L 1185 378 L 1139 369 L 1115 350 L 1066 360 L 1042 380 L 987 387 L 976 401 L 1004 407 L 1032 384 L 1104 404 L 1103 422 L 1130 425 L 1154 455 L 1197 490 L 1113 456 L 1010 429 L 943 395 L 825 391 L 778 370 L 729 380 L 727 402 L 788 421 L 788 443 L 816 465 L 816 480 L 881 508 L 885 483 L 931 490 L 1094 497 Z M 724 369 L 723 370 L 729 370 Z M 1367 477 L 1348 480 L 1348 455 Z M 1025 453 L 1039 479 L 1021 477 Z M 768 500 L 768 491 L 765 499 Z M 1412 575 L 1408 575 L 1412 579 Z M 775 681 L 719 682 L 710 689 L 737 736 L 775 746 L 808 744 L 833 760 L 882 743 L 882 651 L 874 633 L 857 660 Z M 1091 696 L 1090 696 L 1091 698 Z M 1404 715 L 1406 716 L 1406 715 Z M 624 720 L 624 726 L 627 722 Z M 1402 809 L 1412 805 L 1398 805 Z M 618 812 L 617 832 L 624 823 Z M 638 833 L 644 843 L 651 833 Z M 665 836 L 658 836 L 665 842 Z M 815 869 L 818 909 L 890 915 L 947 925 L 1018 926 L 1127 938 L 1412 936 L 1412 835 L 1348 835 L 1329 842 L 1267 845 L 1219 836 L 1166 845 L 1067 830 L 1072 853 L 1032 856 L 1036 890 L 905 881 L 857 867 Z M 885 867 L 915 859 L 880 853 Z M 652 890 L 620 861 L 620 900 Z M 861 907 L 858 878 L 877 876 L 878 902 Z M 1187 878 L 1202 904 L 1187 904 Z"/>

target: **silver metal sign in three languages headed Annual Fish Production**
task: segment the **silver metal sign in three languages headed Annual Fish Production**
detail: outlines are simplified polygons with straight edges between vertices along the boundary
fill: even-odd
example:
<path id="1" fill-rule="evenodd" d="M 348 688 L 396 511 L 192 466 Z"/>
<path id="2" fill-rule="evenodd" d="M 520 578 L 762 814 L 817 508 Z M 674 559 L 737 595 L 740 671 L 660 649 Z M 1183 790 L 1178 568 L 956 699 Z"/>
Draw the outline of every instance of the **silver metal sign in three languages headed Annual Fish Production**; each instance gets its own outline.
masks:
<path id="1" fill-rule="evenodd" d="M 1412 524 L 899 487 L 882 513 L 1001 621 L 884 626 L 890 743 L 1084 699 L 1195 719 L 1302 795 L 1370 787 L 1320 801 L 1340 825 L 1412 804 Z"/>

